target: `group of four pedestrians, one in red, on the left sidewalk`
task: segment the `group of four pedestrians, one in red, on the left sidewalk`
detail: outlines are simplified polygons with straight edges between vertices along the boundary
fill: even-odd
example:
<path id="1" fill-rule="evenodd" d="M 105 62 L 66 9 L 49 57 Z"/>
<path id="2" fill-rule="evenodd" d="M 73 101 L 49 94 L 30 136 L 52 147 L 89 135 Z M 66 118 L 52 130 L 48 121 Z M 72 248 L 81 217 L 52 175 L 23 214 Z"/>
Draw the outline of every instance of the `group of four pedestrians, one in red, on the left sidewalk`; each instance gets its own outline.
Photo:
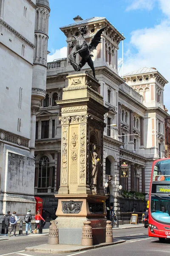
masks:
<path id="1" fill-rule="evenodd" d="M 46 213 L 44 209 L 42 209 L 42 215 L 40 214 L 39 211 L 36 212 L 34 233 L 37 233 L 37 229 L 40 226 L 40 220 L 43 221 L 42 227 L 45 226 L 45 223 L 46 223 L 45 218 L 46 218 Z M 13 214 L 10 215 L 10 212 L 8 211 L 7 214 L 4 216 L 3 220 L 5 221 L 5 236 L 11 236 L 12 231 L 14 232 L 14 236 L 16 236 L 17 221 L 20 220 L 20 218 L 17 217 L 16 212 L 13 212 Z M 24 217 L 24 221 L 26 222 L 26 235 L 28 235 L 28 227 L 29 227 L 30 233 L 31 234 L 33 233 L 32 227 L 31 227 L 31 220 L 32 220 L 31 210 L 28 209 L 28 212 Z M 10 232 L 9 232 L 9 226 L 11 227 Z"/>

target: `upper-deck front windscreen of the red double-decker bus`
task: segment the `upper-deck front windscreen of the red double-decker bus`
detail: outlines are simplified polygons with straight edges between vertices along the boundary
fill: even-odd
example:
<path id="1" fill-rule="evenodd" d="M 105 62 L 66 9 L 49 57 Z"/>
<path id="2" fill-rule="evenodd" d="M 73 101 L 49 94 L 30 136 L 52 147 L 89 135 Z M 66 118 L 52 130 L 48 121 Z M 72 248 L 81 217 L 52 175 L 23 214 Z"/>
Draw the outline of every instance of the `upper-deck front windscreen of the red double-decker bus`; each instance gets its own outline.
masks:
<path id="1" fill-rule="evenodd" d="M 156 162 L 153 167 L 153 181 L 170 181 L 170 159 Z"/>

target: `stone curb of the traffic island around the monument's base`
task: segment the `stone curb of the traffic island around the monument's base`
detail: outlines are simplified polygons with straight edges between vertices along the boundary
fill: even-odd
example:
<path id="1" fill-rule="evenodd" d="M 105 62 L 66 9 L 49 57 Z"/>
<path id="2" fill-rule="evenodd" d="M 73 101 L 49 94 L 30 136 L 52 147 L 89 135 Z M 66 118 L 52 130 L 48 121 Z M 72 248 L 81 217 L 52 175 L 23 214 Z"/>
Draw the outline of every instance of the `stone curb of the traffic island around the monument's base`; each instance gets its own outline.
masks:
<path id="1" fill-rule="evenodd" d="M 110 245 L 114 245 L 114 244 L 122 244 L 122 243 L 125 243 L 125 240 L 119 240 L 119 241 L 116 241 L 116 242 L 112 242 L 112 243 L 103 243 L 103 244 L 96 244 L 94 246 L 88 246 L 88 247 L 83 247 L 83 248 L 77 248 L 77 249 L 73 249 L 73 250 L 57 250 L 57 249 L 42 249 L 41 245 L 37 246 L 39 248 L 34 248 L 34 247 L 26 247 L 26 251 L 27 252 L 40 252 L 40 253 L 45 253 L 45 252 L 48 252 L 48 253 L 74 253 L 74 252 L 79 252 L 79 251 L 83 251 L 83 250 L 91 250 L 91 249 L 96 249 L 96 248 L 100 248 L 100 247 L 105 247 L 105 246 L 110 246 Z M 45 244 L 43 244 L 45 245 Z M 63 244 L 63 247 L 65 246 L 66 244 Z M 51 244 L 51 247 L 53 245 Z M 55 246 L 57 246 L 57 244 L 55 244 Z M 77 247 L 79 247 L 77 245 Z"/>

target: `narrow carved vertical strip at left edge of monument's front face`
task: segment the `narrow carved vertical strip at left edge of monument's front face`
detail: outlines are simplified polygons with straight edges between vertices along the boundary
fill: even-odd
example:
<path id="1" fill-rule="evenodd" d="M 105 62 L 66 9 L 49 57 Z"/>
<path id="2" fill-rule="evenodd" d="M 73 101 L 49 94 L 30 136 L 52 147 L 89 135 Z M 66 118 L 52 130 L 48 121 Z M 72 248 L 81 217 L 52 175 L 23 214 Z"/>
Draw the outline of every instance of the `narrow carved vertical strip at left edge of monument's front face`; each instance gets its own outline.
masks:
<path id="1" fill-rule="evenodd" d="M 67 184 L 67 151 L 68 151 L 68 126 L 62 128 L 62 181 L 61 184 Z"/>

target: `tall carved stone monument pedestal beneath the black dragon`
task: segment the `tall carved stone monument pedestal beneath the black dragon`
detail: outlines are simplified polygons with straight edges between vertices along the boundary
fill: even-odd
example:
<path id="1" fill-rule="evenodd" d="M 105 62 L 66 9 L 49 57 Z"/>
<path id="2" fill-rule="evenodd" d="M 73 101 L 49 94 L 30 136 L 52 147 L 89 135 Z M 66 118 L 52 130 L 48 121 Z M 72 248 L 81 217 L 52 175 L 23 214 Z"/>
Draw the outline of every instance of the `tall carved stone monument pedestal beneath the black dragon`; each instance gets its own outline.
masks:
<path id="1" fill-rule="evenodd" d="M 91 221 L 93 243 L 105 242 L 103 189 L 104 114 L 99 82 L 88 73 L 68 76 L 61 106 L 61 181 L 57 207 L 59 243 L 81 244 L 84 221 Z M 87 235 L 88 236 L 88 235 Z"/>

